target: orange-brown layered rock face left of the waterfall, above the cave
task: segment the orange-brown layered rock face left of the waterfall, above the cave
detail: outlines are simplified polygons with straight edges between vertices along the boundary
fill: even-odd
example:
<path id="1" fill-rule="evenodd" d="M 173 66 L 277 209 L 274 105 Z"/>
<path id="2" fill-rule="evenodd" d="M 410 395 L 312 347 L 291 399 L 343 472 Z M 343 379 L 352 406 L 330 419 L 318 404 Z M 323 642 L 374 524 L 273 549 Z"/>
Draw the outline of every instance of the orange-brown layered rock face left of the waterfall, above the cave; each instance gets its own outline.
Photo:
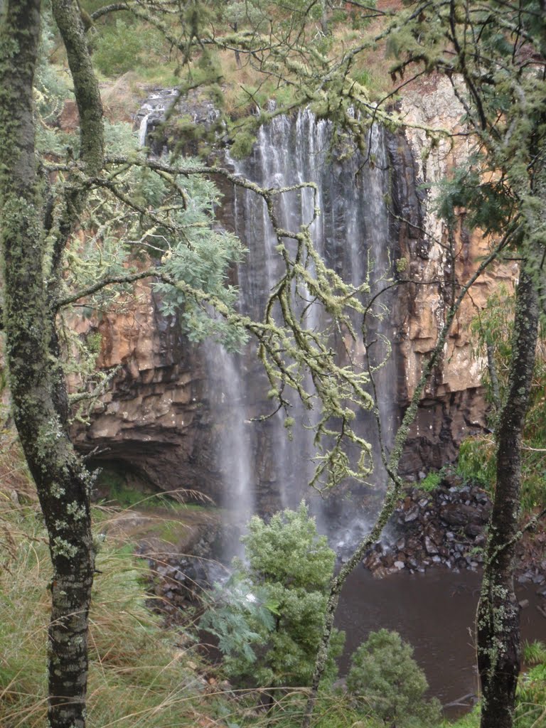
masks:
<path id="1" fill-rule="evenodd" d="M 95 464 L 114 464 L 165 490 L 213 492 L 214 473 L 202 453 L 210 437 L 202 402 L 202 370 L 173 320 L 159 312 L 150 285 L 132 303 L 79 333 L 100 333 L 98 367 L 117 369 L 90 424 L 75 424 L 76 445 Z"/>

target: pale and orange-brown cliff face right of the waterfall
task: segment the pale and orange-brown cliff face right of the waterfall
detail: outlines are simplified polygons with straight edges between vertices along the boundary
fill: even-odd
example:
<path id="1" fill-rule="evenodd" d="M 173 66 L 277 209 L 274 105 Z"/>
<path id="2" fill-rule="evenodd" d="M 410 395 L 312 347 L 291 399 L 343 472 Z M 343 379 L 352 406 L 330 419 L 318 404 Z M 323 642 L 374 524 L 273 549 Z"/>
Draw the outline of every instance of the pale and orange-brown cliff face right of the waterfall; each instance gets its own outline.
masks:
<path id="1" fill-rule="evenodd" d="M 459 226 L 451 235 L 434 214 L 438 194 L 435 183 L 464 159 L 468 153 L 467 142 L 446 138 L 437 149 L 424 154 L 428 140 L 419 127 L 460 131 L 463 113 L 448 79 L 435 76 L 420 82 L 419 89 L 409 91 L 403 100 L 403 115 L 408 122 L 406 135 L 416 160 L 416 176 L 431 185 L 424 219 L 427 245 L 424 250 L 416 250 L 410 241 L 403 251 L 411 277 L 416 280 L 415 285 L 408 285 L 405 303 L 400 304 L 405 314 L 400 352 L 406 401 L 414 392 L 424 360 L 435 346 L 451 296 L 459 294 L 460 286 L 470 279 L 491 249 L 489 238 L 479 231 L 470 234 L 464 228 L 464 210 L 459 211 Z M 454 266 L 451 265 L 453 256 Z M 464 298 L 452 325 L 443 361 L 425 390 L 405 449 L 405 472 L 418 467 L 427 470 L 427 465 L 441 467 L 454 459 L 462 438 L 485 426 L 486 403 L 481 388 L 484 362 L 472 352 L 470 324 L 491 293 L 501 284 L 507 288 L 513 286 L 516 276 L 516 264 L 495 264 L 478 278 Z"/>

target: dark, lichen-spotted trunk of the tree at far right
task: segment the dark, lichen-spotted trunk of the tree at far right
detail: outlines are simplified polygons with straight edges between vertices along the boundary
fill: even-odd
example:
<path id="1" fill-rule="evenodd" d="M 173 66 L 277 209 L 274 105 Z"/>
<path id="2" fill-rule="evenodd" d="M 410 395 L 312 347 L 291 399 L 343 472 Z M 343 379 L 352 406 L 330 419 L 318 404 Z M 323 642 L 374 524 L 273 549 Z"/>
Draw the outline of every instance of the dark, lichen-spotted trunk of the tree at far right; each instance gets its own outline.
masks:
<path id="1" fill-rule="evenodd" d="M 539 319 L 537 287 L 523 269 L 516 293 L 507 400 L 496 430 L 496 487 L 478 606 L 481 728 L 512 728 L 520 670 L 519 606 L 513 561 L 519 531 L 521 437 L 529 401 Z"/>

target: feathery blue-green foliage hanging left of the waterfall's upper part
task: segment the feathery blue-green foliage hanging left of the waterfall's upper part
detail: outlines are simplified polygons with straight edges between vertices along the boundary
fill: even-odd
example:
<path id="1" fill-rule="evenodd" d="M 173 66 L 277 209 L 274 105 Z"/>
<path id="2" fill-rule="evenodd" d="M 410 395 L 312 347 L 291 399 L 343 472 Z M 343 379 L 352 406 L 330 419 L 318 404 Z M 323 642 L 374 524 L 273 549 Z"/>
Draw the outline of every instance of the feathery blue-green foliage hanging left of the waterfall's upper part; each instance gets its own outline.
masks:
<path id="1" fill-rule="evenodd" d="M 109 154 L 130 156 L 135 152 L 135 132 L 129 124 L 106 123 L 105 137 Z M 188 166 L 196 163 L 184 160 Z M 174 283 L 189 285 L 233 309 L 237 290 L 228 284 L 227 275 L 230 266 L 242 259 L 244 250 L 237 237 L 218 226 L 215 208 L 221 197 L 215 184 L 200 175 L 181 174 L 173 180 L 146 167 L 120 167 L 116 184 L 118 194 L 104 188 L 90 192 L 94 214 L 82 224 L 84 240 L 75 237 L 65 253 L 66 289 L 85 288 L 107 277 L 136 272 L 140 256 L 145 263 L 154 260 L 157 272 Z M 138 207 L 128 208 L 120 194 Z M 143 217 L 142 210 L 153 215 L 151 221 Z M 89 299 L 90 307 L 123 310 L 124 293 L 131 290 L 130 286 L 102 289 Z M 155 290 L 162 312 L 176 317 L 191 341 L 212 336 L 230 351 L 240 349 L 246 341 L 242 328 L 213 314 L 201 297 L 189 297 L 182 288 L 165 282 L 157 282 Z M 74 347 L 79 343 L 68 348 Z"/>

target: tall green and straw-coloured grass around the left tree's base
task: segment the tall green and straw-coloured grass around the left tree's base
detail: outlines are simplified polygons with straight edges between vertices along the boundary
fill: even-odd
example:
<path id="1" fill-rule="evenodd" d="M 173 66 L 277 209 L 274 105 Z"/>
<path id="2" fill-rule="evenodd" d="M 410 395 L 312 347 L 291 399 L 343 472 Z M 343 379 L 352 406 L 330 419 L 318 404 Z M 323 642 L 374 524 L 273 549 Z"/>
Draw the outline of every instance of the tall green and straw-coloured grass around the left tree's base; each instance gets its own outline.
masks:
<path id="1" fill-rule="evenodd" d="M 51 578 L 36 502 L 0 490 L 0 726 L 47 724 L 46 643 Z M 146 562 L 103 543 L 90 612 L 89 728 L 215 726 L 194 641 L 146 608 Z M 212 689 L 212 692 L 217 692 Z M 207 707 L 210 705 L 210 708 Z"/>

